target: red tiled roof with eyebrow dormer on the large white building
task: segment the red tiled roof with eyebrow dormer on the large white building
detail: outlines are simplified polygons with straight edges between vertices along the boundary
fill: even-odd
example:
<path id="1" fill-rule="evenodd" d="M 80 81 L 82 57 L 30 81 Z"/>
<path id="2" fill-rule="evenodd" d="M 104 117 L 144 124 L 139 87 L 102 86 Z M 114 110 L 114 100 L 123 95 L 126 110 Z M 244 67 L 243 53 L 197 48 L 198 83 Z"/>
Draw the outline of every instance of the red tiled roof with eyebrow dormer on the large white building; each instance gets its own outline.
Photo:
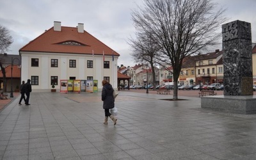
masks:
<path id="1" fill-rule="evenodd" d="M 83 45 L 64 45 L 63 42 L 78 42 Z M 54 31 L 50 28 L 42 35 L 32 40 L 27 45 L 22 47 L 20 51 L 31 52 L 60 52 L 60 53 L 76 53 L 76 54 L 92 54 L 120 56 L 97 38 L 84 31 L 78 33 L 77 28 L 61 26 L 61 31 Z"/>

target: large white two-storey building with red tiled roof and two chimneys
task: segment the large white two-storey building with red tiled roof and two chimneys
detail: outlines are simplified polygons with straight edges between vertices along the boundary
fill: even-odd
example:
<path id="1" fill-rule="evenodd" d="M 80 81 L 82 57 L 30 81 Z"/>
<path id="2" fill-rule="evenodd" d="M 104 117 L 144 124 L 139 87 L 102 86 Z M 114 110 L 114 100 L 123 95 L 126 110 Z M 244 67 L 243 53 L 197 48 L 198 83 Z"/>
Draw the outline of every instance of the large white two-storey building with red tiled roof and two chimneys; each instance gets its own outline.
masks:
<path id="1" fill-rule="evenodd" d="M 117 88 L 118 54 L 97 38 L 77 28 L 54 26 L 19 50 L 21 80 L 31 79 L 33 92 L 50 92 L 54 83 L 60 92 L 61 79 L 106 79 Z"/>

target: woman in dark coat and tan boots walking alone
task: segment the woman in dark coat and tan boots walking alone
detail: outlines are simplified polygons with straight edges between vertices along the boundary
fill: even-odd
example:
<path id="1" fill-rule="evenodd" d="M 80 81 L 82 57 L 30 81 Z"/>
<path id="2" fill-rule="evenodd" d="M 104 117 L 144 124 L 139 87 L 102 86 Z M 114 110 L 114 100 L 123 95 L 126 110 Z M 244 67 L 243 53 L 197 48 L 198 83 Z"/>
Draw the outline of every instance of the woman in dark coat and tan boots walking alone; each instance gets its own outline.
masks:
<path id="1" fill-rule="evenodd" d="M 112 88 L 111 84 L 108 81 L 102 81 L 102 93 L 101 93 L 101 100 L 103 101 L 103 109 L 105 109 L 105 121 L 103 124 L 108 125 L 108 117 L 113 120 L 114 125 L 116 125 L 117 119 L 109 113 L 109 109 L 115 107 L 115 99 L 113 97 L 114 89 Z"/>

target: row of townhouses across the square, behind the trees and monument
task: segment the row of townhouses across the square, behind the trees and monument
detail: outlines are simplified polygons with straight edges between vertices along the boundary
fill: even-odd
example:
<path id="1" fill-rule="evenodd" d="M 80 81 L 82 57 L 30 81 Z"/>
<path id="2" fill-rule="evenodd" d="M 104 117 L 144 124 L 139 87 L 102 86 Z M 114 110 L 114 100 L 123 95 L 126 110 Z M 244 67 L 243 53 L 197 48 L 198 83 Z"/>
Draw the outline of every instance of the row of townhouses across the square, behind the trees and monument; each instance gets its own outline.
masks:
<path id="1" fill-rule="evenodd" d="M 253 61 L 253 84 L 256 84 L 256 44 L 252 44 L 252 61 Z M 166 69 L 168 68 L 168 69 Z M 172 84 L 173 75 L 172 67 L 156 67 L 156 85 L 163 85 L 166 83 Z M 153 84 L 152 70 L 147 68 L 145 64 L 135 65 L 134 67 L 127 67 L 124 72 L 131 77 L 131 85 Z M 188 56 L 184 59 L 180 76 L 178 80 L 179 85 L 189 84 L 211 84 L 223 83 L 223 52 L 216 49 L 215 52 L 206 54 L 197 54 Z"/>

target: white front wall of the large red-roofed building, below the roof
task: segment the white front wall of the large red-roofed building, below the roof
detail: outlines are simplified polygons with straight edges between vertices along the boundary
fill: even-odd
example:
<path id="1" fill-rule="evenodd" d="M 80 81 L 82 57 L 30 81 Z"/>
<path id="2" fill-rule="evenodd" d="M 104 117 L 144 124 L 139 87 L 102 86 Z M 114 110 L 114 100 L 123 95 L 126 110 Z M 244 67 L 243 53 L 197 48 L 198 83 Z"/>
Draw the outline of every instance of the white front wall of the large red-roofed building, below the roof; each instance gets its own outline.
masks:
<path id="1" fill-rule="evenodd" d="M 44 52 L 20 52 L 22 60 L 21 80 L 27 81 L 31 76 L 38 76 L 39 85 L 33 85 L 34 92 L 50 92 L 51 76 L 58 76 L 58 85 L 55 88 L 60 91 L 60 80 L 76 77 L 87 79 L 93 76 L 98 80 L 99 91 L 102 89 L 103 77 L 109 77 L 113 88 L 117 88 L 117 60 L 112 61 L 112 56 L 105 55 L 105 61 L 109 61 L 109 68 L 103 68 L 102 56 L 87 54 L 60 54 Z M 39 66 L 31 67 L 31 58 L 38 58 Z M 58 67 L 51 67 L 51 59 L 58 59 Z M 69 60 L 76 60 L 76 68 L 69 67 Z M 87 68 L 87 60 L 93 60 L 93 68 Z"/>

